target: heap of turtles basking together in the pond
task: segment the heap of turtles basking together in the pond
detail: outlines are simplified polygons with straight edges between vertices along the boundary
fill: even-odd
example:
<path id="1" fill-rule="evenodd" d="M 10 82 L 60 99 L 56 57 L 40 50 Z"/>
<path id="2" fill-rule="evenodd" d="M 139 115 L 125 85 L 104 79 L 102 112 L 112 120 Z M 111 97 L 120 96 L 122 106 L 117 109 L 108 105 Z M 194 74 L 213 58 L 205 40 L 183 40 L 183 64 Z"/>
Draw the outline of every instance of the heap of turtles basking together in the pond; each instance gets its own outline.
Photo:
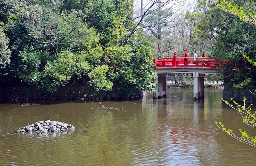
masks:
<path id="1" fill-rule="evenodd" d="M 50 132 L 58 132 L 58 131 L 65 131 L 65 130 L 75 130 L 75 127 L 72 124 L 66 124 L 59 121 L 54 120 L 46 120 L 46 121 L 39 121 L 35 122 L 35 124 L 28 124 L 25 127 L 17 130 L 16 132 L 43 132 L 46 133 Z"/>

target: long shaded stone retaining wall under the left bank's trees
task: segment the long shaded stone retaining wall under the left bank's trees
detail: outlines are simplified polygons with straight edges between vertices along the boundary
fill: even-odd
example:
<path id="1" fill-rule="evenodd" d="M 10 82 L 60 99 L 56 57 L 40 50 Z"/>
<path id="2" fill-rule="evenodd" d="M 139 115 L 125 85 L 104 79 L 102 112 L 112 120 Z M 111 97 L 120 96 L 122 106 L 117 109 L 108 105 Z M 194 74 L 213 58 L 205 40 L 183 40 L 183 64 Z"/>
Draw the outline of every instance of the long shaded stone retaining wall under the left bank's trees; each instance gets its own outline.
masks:
<path id="1" fill-rule="evenodd" d="M 113 86 L 113 91 L 99 91 L 93 90 L 93 87 L 73 86 L 60 87 L 53 93 L 44 94 L 36 87 L 1 87 L 0 100 L 56 100 L 56 99 L 128 99 L 129 97 L 142 96 L 143 91 L 137 89 L 136 95 L 128 96 L 123 93 L 117 96 L 119 85 Z"/>

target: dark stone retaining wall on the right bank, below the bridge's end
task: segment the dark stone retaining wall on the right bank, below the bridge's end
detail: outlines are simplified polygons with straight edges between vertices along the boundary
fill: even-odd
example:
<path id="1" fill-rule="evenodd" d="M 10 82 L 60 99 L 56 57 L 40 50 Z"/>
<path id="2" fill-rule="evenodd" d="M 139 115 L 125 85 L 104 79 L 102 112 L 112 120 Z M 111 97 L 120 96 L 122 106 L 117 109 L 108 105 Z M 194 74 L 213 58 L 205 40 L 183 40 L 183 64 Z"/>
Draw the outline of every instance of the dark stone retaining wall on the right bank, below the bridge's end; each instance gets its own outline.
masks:
<path id="1" fill-rule="evenodd" d="M 250 91 L 255 93 L 256 87 L 251 87 Z M 246 102 L 256 102 L 256 95 L 252 94 L 248 88 L 235 89 L 232 85 L 224 84 L 223 99 L 230 100 L 233 98 L 237 102 L 241 102 L 246 98 Z"/>

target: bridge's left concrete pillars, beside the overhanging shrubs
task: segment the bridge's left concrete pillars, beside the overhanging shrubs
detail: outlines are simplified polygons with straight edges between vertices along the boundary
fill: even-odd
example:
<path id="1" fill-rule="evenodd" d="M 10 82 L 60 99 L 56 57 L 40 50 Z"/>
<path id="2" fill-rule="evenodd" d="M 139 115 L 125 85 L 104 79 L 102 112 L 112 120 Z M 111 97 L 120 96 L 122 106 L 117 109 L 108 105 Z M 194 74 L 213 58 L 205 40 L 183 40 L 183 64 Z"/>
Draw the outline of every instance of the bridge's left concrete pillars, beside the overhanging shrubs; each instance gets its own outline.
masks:
<path id="1" fill-rule="evenodd" d="M 154 82 L 159 84 L 155 91 L 153 92 L 153 98 L 163 97 L 166 95 L 167 91 L 167 74 L 158 74 L 158 78 L 154 79 Z"/>

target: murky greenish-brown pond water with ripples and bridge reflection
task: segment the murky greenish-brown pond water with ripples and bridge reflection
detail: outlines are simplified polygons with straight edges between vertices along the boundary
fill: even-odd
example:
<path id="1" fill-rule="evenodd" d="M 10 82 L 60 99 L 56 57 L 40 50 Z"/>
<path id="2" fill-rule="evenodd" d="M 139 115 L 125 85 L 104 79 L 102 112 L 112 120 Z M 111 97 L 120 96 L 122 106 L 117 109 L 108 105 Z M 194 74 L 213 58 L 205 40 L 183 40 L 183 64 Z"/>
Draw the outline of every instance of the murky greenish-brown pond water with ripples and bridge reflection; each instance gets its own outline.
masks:
<path id="1" fill-rule="evenodd" d="M 193 89 L 168 89 L 129 101 L 33 101 L 40 106 L 0 104 L 0 165 L 255 165 L 256 148 L 218 129 L 215 122 L 239 134 L 256 136 L 241 116 L 221 101 L 222 89 L 205 89 L 193 100 Z M 23 104 L 26 102 L 23 102 Z M 75 126 L 74 132 L 15 133 L 36 121 L 54 119 Z M 237 156 L 238 158 L 234 158 Z"/>

